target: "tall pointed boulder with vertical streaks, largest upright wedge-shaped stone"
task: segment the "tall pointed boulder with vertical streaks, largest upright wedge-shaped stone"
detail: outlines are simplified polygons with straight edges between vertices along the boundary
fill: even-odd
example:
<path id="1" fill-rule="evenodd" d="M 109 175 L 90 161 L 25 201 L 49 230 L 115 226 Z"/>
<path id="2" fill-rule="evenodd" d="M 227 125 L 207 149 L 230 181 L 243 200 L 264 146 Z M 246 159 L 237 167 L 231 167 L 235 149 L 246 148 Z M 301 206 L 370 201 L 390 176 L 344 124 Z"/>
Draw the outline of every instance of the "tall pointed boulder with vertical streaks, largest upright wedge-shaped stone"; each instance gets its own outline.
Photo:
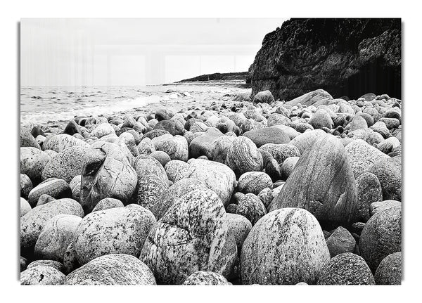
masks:
<path id="1" fill-rule="evenodd" d="M 352 220 L 357 207 L 356 182 L 338 138 L 321 136 L 305 150 L 269 212 L 284 207 L 305 208 L 321 224 L 331 226 Z"/>

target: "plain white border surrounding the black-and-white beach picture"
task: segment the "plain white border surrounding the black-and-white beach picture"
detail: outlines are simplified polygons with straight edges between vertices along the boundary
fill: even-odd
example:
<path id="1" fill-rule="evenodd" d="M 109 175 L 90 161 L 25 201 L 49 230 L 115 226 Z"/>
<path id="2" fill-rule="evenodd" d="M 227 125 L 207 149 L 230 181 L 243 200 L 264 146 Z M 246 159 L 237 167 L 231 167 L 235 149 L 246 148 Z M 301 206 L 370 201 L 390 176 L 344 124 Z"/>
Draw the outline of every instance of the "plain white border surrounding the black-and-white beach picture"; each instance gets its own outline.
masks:
<path id="1" fill-rule="evenodd" d="M 416 2 L 415 2 L 416 3 Z M 404 1 L 7 1 L 1 12 L 1 286 L 2 297 L 37 301 L 75 302 L 94 299 L 96 302 L 383 302 L 414 301 L 420 297 L 419 254 L 421 228 L 421 18 L 416 5 Z M 229 288 L 163 287 L 22 287 L 17 278 L 18 264 L 18 37 L 20 18 L 402 18 L 403 26 L 403 100 L 404 100 L 404 281 L 399 287 L 286 287 L 239 286 Z M 77 302 L 76 301 L 76 302 Z"/>

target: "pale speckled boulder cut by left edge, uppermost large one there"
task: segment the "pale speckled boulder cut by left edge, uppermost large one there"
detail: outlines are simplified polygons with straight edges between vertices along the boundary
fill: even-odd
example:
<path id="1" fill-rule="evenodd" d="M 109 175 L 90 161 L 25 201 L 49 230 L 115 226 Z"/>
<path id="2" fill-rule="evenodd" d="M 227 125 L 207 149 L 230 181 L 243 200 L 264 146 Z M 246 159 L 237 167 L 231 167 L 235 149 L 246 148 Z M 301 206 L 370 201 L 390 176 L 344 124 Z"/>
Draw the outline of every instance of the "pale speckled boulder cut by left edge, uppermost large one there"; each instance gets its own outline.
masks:
<path id="1" fill-rule="evenodd" d="M 20 148 L 20 174 L 26 174 L 32 181 L 38 180 L 50 159 L 49 155 L 38 148 Z"/>

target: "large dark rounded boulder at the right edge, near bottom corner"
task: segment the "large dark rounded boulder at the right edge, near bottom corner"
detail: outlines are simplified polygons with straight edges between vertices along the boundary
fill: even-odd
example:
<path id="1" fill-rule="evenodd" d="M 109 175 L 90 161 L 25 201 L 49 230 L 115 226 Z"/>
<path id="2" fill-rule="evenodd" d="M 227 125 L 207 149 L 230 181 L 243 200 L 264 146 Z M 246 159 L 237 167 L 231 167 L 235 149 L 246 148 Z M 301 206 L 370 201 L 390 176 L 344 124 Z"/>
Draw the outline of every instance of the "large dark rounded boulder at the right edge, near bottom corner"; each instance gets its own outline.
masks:
<path id="1" fill-rule="evenodd" d="M 359 240 L 362 257 L 372 271 L 381 261 L 400 252 L 402 246 L 402 209 L 391 207 L 374 214 L 364 227 Z"/>

